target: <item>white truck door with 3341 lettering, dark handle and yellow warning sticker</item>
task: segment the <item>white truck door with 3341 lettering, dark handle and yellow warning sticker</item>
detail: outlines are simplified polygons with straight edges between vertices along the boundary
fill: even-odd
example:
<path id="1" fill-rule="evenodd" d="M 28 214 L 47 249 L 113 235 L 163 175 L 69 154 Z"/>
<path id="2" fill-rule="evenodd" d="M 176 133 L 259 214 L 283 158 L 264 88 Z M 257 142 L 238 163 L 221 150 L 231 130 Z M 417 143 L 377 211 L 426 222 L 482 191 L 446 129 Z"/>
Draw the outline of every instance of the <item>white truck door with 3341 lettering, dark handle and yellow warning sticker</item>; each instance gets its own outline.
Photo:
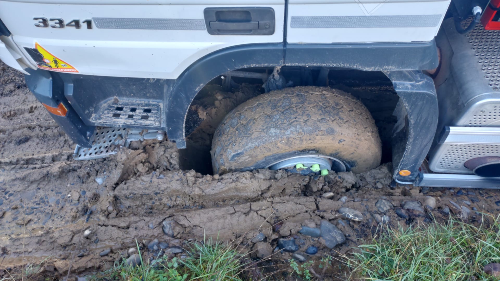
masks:
<path id="1" fill-rule="evenodd" d="M 282 42 L 284 0 L 0 0 L 38 68 L 175 79 L 215 50 Z"/>

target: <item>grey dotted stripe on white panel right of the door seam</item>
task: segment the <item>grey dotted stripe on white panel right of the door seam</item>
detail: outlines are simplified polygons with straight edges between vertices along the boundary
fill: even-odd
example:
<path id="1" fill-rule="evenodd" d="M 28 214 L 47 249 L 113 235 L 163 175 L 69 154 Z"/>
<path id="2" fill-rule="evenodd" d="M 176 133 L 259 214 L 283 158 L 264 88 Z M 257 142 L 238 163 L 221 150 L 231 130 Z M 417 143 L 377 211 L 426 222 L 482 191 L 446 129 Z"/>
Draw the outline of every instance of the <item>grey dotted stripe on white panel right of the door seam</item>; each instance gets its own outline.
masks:
<path id="1" fill-rule="evenodd" d="M 291 28 L 435 27 L 441 14 L 291 16 Z"/>

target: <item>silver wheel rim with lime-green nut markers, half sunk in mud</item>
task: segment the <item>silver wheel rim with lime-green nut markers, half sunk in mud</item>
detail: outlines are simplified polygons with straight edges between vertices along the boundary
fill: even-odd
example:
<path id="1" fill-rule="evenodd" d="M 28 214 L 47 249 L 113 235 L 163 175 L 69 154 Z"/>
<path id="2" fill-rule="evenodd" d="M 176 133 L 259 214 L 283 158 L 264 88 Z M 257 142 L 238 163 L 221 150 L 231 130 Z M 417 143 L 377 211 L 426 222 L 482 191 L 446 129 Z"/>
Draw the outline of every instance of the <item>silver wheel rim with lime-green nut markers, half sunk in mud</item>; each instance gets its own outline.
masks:
<path id="1" fill-rule="evenodd" d="M 271 170 L 285 169 L 285 168 L 310 168 L 312 171 L 320 171 L 321 174 L 327 174 L 329 170 L 336 172 L 346 171 L 345 164 L 337 158 L 326 155 L 302 155 L 293 156 L 285 159 L 280 159 L 267 168 Z"/>

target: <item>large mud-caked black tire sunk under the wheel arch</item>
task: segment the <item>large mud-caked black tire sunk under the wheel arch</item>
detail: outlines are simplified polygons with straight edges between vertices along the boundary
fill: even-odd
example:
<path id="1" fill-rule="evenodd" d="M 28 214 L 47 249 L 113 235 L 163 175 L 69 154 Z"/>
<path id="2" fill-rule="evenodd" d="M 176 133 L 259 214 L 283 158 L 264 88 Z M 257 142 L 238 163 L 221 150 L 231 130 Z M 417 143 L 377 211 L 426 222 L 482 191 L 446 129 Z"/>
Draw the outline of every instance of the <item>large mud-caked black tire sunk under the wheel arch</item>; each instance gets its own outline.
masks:
<path id="1" fill-rule="evenodd" d="M 303 86 L 238 105 L 215 130 L 210 152 L 213 171 L 219 174 L 309 153 L 340 159 L 357 173 L 380 164 L 381 144 L 370 112 L 355 97 Z"/>

